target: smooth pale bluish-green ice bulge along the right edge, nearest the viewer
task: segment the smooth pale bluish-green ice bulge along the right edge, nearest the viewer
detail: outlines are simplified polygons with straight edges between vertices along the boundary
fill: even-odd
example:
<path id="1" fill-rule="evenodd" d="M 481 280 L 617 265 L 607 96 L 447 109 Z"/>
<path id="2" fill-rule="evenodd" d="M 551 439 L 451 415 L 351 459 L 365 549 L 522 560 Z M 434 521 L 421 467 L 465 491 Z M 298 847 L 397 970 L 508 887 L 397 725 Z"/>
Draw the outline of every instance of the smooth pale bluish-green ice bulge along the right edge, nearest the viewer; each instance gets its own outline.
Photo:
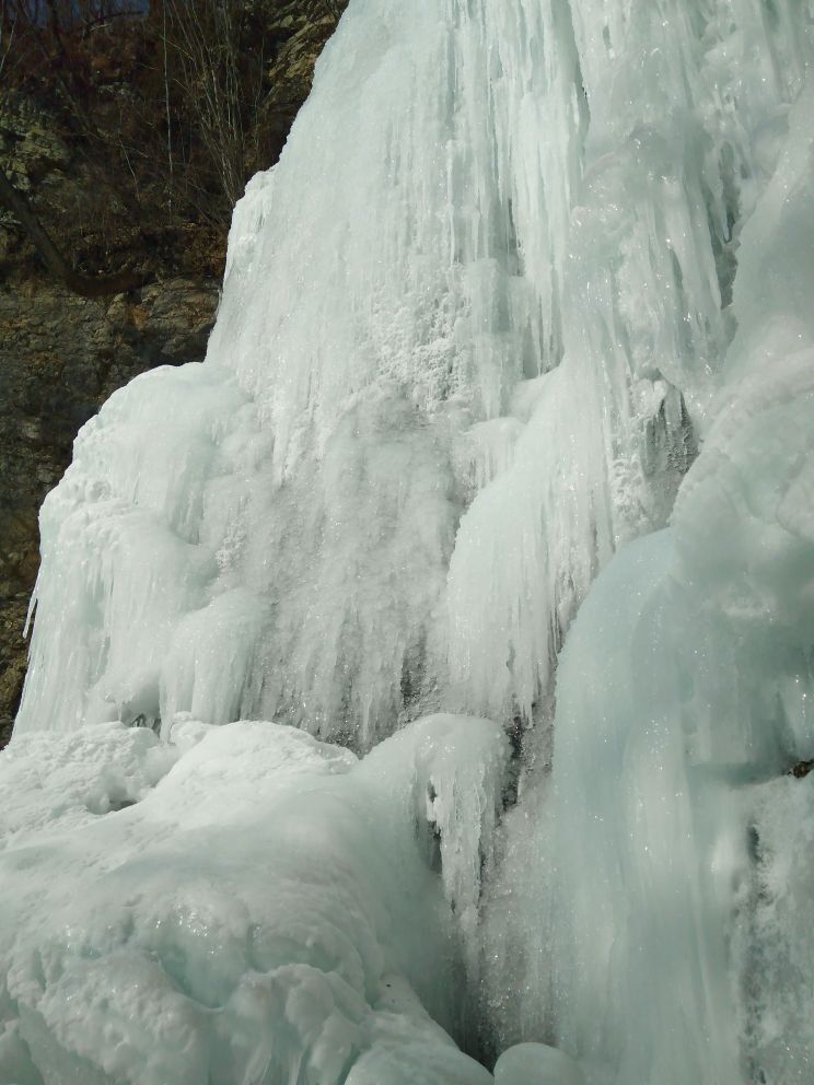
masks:
<path id="1" fill-rule="evenodd" d="M 814 810 L 786 773 L 814 750 L 813 93 L 741 235 L 737 332 L 673 527 L 580 609 L 551 774 L 490 888 L 502 1036 L 553 1034 L 591 1082 L 811 1076 Z"/>

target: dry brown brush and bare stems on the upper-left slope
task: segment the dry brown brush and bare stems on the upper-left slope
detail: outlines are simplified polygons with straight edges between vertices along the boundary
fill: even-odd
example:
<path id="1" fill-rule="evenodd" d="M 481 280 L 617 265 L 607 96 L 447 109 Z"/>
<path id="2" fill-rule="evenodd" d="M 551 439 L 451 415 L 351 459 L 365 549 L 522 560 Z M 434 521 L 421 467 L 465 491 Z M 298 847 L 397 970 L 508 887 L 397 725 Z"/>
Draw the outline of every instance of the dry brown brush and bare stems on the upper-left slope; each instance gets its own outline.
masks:
<path id="1" fill-rule="evenodd" d="M 307 91 L 286 49 L 313 65 L 344 5 L 0 0 L 0 226 L 79 293 L 218 275 Z"/>

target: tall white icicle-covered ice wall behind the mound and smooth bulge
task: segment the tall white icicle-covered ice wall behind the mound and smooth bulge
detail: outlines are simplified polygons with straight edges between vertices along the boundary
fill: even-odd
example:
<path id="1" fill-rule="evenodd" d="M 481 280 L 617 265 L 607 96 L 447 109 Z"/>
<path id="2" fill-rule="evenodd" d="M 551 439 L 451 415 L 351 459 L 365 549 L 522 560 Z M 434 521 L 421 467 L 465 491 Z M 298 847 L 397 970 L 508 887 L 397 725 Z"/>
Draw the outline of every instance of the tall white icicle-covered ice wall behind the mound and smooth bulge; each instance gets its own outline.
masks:
<path id="1" fill-rule="evenodd" d="M 351 3 L 235 211 L 206 363 L 114 396 L 46 502 L 18 730 L 531 718 L 695 455 L 809 24 Z"/>

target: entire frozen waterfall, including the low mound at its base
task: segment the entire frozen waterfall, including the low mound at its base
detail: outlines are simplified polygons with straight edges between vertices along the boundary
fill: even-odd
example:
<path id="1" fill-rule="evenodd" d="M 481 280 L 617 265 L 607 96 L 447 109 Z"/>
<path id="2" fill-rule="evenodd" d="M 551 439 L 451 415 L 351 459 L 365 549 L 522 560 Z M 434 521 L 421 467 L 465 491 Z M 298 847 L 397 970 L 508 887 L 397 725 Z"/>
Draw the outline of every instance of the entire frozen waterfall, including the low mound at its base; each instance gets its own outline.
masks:
<path id="1" fill-rule="evenodd" d="M 427 1013 L 810 1081 L 813 59 L 812 0 L 351 0 L 206 361 L 43 509 L 18 1085 L 488 1081 Z"/>

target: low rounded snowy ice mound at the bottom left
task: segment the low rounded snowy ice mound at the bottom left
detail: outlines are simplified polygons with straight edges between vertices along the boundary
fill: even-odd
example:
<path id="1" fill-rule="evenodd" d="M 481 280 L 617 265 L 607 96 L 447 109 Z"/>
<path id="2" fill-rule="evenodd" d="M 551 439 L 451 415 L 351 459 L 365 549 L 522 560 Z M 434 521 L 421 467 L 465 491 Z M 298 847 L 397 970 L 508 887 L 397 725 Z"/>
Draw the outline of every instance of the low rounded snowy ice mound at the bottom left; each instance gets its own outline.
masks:
<path id="1" fill-rule="evenodd" d="M 429 719 L 363 761 L 268 723 L 171 739 L 0 755 L 0 1081 L 491 1081 L 428 1011 L 461 1030 L 502 730 Z"/>

